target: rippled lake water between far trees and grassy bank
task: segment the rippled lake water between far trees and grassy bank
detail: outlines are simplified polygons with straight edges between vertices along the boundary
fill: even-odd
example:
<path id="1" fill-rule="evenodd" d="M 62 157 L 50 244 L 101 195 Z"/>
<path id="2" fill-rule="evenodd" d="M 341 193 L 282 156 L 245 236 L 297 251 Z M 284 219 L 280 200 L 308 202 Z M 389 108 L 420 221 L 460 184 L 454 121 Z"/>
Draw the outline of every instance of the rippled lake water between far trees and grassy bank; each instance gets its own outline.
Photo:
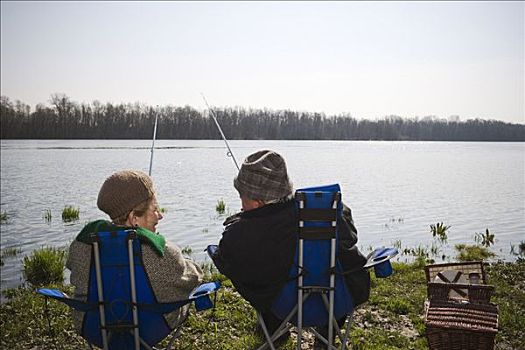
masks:
<path id="1" fill-rule="evenodd" d="M 445 252 L 456 243 L 474 243 L 476 232 L 496 235 L 492 250 L 511 260 L 511 244 L 525 240 L 525 143 L 380 141 L 231 141 L 241 162 L 259 149 L 287 160 L 294 186 L 339 183 L 353 211 L 359 245 L 403 247 L 432 242 L 429 225 L 450 225 Z M 4 258 L 2 289 L 21 281 L 21 260 L 42 246 L 68 245 L 83 227 L 104 218 L 96 207 L 105 178 L 114 171 L 148 171 L 151 141 L 2 140 L 2 249 L 22 253 Z M 205 260 L 208 244 L 221 237 L 225 215 L 240 208 L 233 188 L 237 170 L 222 141 L 159 140 L 153 180 L 167 210 L 158 230 Z M 80 209 L 80 220 L 63 223 L 62 209 Z M 50 210 L 46 222 L 43 213 Z"/>

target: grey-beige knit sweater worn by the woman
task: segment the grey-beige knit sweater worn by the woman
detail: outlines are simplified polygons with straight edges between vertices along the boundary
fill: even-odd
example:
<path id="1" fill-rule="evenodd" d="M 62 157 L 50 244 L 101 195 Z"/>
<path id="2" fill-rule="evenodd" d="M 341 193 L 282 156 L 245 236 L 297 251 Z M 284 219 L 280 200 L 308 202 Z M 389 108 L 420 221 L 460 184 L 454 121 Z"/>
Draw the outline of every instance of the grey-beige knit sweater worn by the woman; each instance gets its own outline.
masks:
<path id="1" fill-rule="evenodd" d="M 189 293 L 201 282 L 202 271 L 193 261 L 185 259 L 181 250 L 166 245 L 160 256 L 147 243 L 141 242 L 144 269 L 149 277 L 153 292 L 160 303 L 187 299 Z M 71 270 L 71 284 L 75 286 L 75 299 L 87 300 L 91 245 L 73 241 L 69 247 L 66 267 Z M 188 306 L 164 315 L 170 327 L 176 327 Z M 84 313 L 73 311 L 75 327 L 80 332 Z"/>

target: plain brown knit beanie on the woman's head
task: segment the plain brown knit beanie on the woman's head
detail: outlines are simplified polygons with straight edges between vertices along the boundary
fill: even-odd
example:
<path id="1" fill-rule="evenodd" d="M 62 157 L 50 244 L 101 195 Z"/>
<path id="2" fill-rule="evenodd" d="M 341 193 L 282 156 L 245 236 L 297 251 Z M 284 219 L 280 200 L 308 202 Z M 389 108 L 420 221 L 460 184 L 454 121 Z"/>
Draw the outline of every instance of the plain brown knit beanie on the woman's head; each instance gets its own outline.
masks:
<path id="1" fill-rule="evenodd" d="M 98 193 L 97 206 L 111 219 L 129 213 L 155 194 L 151 178 L 141 171 L 118 171 L 108 177 Z"/>

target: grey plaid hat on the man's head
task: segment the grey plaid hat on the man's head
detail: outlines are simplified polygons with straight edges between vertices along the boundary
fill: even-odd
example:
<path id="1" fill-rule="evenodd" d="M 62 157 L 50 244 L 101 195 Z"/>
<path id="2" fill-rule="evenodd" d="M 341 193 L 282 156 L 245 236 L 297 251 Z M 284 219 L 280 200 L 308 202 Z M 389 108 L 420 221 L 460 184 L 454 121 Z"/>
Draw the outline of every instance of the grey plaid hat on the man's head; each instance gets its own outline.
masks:
<path id="1" fill-rule="evenodd" d="M 242 163 L 233 186 L 241 196 L 271 201 L 292 194 L 283 157 L 274 151 L 263 150 L 249 155 Z"/>

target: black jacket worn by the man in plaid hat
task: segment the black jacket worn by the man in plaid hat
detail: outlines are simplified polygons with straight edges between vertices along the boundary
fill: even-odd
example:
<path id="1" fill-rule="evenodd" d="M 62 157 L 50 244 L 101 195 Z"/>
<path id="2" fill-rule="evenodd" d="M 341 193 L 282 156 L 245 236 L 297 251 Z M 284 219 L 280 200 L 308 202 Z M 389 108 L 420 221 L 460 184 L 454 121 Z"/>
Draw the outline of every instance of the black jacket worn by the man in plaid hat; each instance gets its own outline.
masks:
<path id="1" fill-rule="evenodd" d="M 243 298 L 255 309 L 266 312 L 288 281 L 293 264 L 298 228 L 295 200 L 235 214 L 224 225 L 213 262 Z M 366 258 L 355 246 L 357 231 L 346 206 L 338 226 L 338 259 L 343 269 L 363 266 Z M 349 273 L 345 279 L 358 284 L 349 286 L 354 304 L 368 299 L 370 277 L 366 270 Z"/>

